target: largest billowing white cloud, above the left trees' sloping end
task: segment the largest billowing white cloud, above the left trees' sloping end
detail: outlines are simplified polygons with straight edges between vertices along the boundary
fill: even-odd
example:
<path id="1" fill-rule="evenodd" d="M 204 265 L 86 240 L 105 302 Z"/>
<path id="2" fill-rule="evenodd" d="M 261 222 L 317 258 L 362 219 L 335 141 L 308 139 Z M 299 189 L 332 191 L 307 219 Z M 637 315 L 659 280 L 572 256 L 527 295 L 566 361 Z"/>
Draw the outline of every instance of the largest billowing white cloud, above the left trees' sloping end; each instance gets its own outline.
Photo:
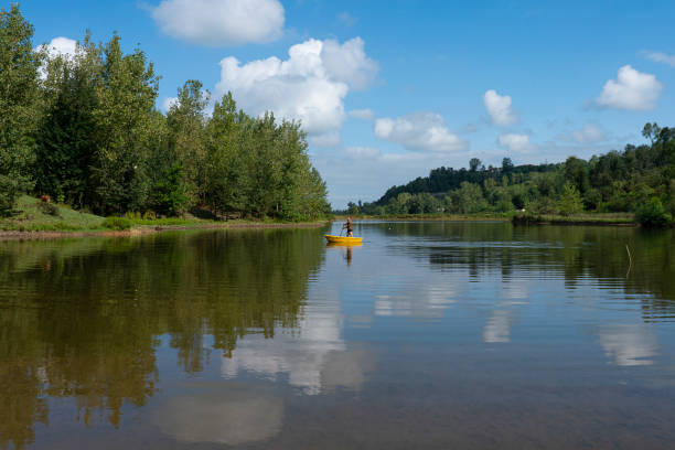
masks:
<path id="1" fill-rule="evenodd" d="M 344 97 L 375 76 L 376 64 L 363 53 L 363 41 L 355 38 L 340 45 L 310 39 L 288 54 L 286 61 L 272 56 L 244 65 L 235 57 L 224 58 L 216 98 L 231 90 L 248 114 L 271 110 L 277 117 L 300 120 L 310 138 L 338 132 L 346 118 Z M 336 68 L 338 61 L 345 66 Z"/>

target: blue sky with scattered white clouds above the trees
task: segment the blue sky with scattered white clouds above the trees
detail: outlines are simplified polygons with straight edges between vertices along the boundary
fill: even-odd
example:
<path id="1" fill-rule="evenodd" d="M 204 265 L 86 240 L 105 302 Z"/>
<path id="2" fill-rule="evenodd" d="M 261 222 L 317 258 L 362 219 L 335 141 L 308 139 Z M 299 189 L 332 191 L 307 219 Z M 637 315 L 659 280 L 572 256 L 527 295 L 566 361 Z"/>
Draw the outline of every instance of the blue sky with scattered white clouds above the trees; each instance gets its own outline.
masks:
<path id="1" fill-rule="evenodd" d="M 0 7 L 8 8 L 1 0 Z M 157 107 L 199 79 L 300 120 L 335 208 L 438 167 L 590 158 L 675 126 L 673 1 L 25 0 L 34 44 L 140 47 Z"/>

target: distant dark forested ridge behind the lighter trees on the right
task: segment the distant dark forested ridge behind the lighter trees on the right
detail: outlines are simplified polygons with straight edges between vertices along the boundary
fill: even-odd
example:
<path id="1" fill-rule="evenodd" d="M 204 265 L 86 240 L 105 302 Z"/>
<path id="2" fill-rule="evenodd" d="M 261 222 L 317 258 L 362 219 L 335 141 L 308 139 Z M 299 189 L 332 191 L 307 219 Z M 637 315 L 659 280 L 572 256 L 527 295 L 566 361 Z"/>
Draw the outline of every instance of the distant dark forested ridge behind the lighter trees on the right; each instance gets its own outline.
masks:
<path id="1" fill-rule="evenodd" d="M 469 162 L 470 169 L 453 169 L 440 167 L 432 169 L 429 172 L 429 176 L 418 176 L 407 184 L 400 186 L 392 186 L 385 192 L 385 194 L 375 202 L 377 205 L 386 205 L 390 199 L 398 196 L 398 194 L 407 192 L 409 194 L 419 194 L 428 192 L 431 194 L 442 194 L 448 191 L 460 188 L 463 182 L 483 184 L 488 179 L 500 179 L 502 175 L 518 176 L 521 174 L 529 174 L 533 172 L 555 172 L 559 169 L 558 164 L 523 164 L 513 165 L 510 158 L 504 158 L 501 168 L 494 168 L 492 165 L 484 168 L 481 167 L 481 161 L 473 158 Z"/>

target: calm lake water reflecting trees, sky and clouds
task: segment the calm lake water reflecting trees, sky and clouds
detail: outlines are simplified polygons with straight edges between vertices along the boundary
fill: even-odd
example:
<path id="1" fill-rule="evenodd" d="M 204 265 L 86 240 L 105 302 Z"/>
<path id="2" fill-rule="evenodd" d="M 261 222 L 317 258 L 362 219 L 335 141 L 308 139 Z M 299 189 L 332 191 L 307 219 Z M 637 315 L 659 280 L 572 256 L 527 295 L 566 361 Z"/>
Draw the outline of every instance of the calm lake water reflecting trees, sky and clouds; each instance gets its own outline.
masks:
<path id="1" fill-rule="evenodd" d="M 330 229 L 0 243 L 0 449 L 675 448 L 673 231 Z"/>

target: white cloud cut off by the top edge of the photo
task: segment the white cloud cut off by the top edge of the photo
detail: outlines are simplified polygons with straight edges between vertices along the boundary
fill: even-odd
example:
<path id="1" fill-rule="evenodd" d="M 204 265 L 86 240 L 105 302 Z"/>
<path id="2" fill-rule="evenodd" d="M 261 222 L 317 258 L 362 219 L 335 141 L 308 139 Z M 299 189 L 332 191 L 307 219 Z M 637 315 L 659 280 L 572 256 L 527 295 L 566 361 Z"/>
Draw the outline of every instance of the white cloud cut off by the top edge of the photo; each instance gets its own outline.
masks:
<path id="1" fill-rule="evenodd" d="M 274 41 L 283 15 L 278 0 L 163 0 L 152 10 L 164 33 L 213 46 Z"/>

